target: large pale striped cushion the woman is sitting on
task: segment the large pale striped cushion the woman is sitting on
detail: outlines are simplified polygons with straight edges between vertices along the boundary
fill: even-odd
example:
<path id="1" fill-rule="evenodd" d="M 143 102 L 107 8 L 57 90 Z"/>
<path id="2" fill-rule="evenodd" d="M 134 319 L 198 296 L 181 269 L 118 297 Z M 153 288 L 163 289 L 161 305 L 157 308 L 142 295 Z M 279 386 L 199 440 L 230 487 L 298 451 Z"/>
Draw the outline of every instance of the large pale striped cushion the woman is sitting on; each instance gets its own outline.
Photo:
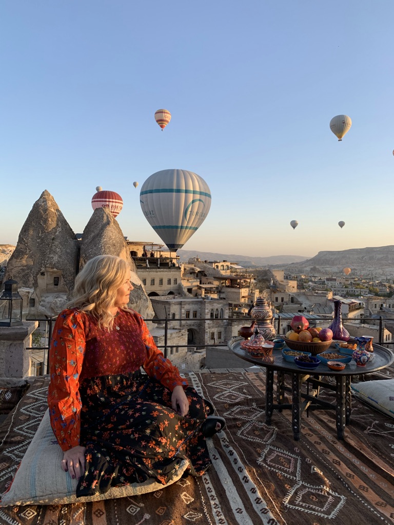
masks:
<path id="1" fill-rule="evenodd" d="M 60 467 L 63 451 L 59 447 L 50 426 L 49 411 L 44 414 L 37 432 L 30 443 L 22 463 L 16 472 L 11 488 L 2 496 L 1 506 L 9 505 L 65 505 L 101 499 L 123 498 L 153 492 L 165 487 L 154 479 L 143 483 L 133 483 L 123 487 L 113 487 L 105 494 L 77 498 L 75 491 L 77 479 L 71 479 L 68 472 Z M 167 485 L 181 478 L 188 467 L 184 460 Z"/>

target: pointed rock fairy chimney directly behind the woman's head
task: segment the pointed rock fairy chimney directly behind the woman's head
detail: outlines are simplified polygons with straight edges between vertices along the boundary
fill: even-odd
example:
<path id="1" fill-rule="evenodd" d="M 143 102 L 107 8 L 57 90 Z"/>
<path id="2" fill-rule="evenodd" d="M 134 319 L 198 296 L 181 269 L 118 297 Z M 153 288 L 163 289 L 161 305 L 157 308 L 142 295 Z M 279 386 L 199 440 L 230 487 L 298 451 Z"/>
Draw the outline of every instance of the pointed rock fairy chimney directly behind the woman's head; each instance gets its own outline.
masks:
<path id="1" fill-rule="evenodd" d="M 152 318 L 154 311 L 149 297 L 137 275 L 125 236 L 107 208 L 97 208 L 85 227 L 81 240 L 79 268 L 97 255 L 117 255 L 125 259 L 131 270 L 134 289 L 130 292 L 129 307 L 144 318 Z"/>

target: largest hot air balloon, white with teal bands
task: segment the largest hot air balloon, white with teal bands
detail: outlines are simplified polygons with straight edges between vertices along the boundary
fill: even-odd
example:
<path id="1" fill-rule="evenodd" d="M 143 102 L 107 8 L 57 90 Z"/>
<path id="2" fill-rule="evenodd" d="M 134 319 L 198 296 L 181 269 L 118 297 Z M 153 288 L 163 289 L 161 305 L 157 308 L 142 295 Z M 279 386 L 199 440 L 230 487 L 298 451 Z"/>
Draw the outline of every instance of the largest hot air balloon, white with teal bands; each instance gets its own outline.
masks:
<path id="1" fill-rule="evenodd" d="M 143 183 L 142 213 L 170 250 L 177 251 L 204 222 L 211 207 L 211 190 L 199 175 L 162 170 Z"/>

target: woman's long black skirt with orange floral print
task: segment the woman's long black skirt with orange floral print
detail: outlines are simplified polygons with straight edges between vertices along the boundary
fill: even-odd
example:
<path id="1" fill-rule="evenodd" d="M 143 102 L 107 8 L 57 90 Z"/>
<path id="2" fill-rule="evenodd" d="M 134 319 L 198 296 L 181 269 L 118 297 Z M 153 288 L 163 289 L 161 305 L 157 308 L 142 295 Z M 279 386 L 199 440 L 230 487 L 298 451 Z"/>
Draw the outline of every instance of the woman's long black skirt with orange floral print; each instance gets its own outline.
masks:
<path id="1" fill-rule="evenodd" d="M 201 425 L 208 409 L 191 387 L 189 413 L 171 408 L 171 391 L 139 373 L 95 377 L 81 382 L 80 443 L 86 447 L 85 475 L 77 497 L 155 478 L 165 485 L 183 459 L 187 474 L 202 476 L 211 460 Z"/>

